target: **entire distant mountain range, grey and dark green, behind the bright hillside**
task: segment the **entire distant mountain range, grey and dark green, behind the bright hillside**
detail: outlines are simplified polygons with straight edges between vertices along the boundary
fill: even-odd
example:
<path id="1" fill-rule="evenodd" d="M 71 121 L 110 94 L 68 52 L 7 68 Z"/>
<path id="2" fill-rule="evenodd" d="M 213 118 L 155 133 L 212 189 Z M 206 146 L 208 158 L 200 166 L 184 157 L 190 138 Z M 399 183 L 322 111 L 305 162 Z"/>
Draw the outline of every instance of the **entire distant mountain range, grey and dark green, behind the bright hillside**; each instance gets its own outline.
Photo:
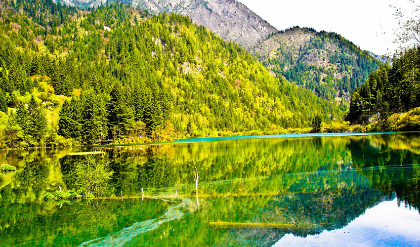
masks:
<path id="1" fill-rule="evenodd" d="M 93 7 L 106 0 L 59 0 L 79 7 Z M 324 99 L 347 107 L 351 91 L 378 69 L 378 56 L 335 33 L 310 28 L 277 31 L 236 0 L 117 0 L 158 14 L 189 16 L 225 41 L 250 50 L 272 75 L 285 77 Z"/>

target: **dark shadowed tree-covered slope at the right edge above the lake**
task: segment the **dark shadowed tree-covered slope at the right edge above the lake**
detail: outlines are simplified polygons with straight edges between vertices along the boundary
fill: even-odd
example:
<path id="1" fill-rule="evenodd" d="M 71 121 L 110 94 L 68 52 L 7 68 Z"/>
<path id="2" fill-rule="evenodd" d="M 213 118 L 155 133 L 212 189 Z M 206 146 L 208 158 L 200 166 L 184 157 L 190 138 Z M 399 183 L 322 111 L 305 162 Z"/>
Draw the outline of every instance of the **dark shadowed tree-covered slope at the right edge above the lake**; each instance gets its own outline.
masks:
<path id="1" fill-rule="evenodd" d="M 420 46 L 396 54 L 392 66 L 385 64 L 373 72 L 353 92 L 346 120 L 379 121 L 385 130 L 418 130 L 420 109 L 417 107 L 420 107 Z"/>

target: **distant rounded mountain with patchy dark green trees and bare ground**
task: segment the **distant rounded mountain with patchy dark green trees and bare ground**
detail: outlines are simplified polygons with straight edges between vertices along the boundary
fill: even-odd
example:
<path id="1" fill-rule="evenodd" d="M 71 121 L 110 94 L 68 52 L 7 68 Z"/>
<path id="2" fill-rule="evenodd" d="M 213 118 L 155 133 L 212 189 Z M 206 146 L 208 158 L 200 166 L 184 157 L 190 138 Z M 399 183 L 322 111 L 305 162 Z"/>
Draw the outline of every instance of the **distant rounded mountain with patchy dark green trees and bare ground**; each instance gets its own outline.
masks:
<path id="1" fill-rule="evenodd" d="M 273 74 L 329 100 L 348 104 L 378 59 L 335 33 L 294 27 L 259 42 L 254 55 Z"/>

